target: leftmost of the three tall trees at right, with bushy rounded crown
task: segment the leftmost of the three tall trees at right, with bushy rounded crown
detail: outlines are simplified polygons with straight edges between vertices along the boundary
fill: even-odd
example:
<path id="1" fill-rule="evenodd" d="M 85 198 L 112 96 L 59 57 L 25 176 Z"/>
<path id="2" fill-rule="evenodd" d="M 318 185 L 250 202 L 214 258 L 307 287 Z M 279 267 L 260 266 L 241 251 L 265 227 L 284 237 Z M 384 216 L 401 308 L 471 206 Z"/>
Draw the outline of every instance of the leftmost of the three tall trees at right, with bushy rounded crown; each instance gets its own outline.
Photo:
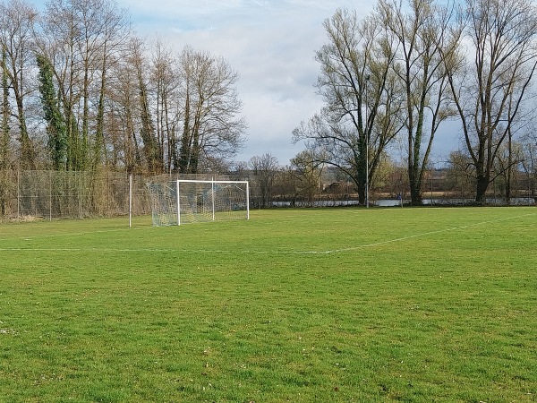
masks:
<path id="1" fill-rule="evenodd" d="M 297 127 L 293 139 L 306 141 L 318 164 L 352 178 L 363 203 L 382 151 L 403 127 L 392 69 L 396 48 L 378 20 L 360 22 L 355 12 L 338 10 L 324 28 L 328 43 L 316 54 L 321 69 L 316 86 L 325 107 Z"/>

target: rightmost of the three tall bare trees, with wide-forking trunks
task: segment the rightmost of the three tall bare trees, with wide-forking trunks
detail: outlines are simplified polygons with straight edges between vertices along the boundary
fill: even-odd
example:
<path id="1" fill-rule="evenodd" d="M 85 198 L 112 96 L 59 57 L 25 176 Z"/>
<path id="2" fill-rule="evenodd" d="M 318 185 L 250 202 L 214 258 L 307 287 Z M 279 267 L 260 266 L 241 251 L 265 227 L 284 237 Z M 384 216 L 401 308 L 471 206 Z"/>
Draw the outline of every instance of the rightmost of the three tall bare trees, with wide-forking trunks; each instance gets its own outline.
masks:
<path id="1" fill-rule="evenodd" d="M 475 169 L 475 201 L 483 203 L 537 67 L 537 7 L 531 0 L 466 0 L 465 21 L 475 56 L 460 74 L 447 71 Z"/>

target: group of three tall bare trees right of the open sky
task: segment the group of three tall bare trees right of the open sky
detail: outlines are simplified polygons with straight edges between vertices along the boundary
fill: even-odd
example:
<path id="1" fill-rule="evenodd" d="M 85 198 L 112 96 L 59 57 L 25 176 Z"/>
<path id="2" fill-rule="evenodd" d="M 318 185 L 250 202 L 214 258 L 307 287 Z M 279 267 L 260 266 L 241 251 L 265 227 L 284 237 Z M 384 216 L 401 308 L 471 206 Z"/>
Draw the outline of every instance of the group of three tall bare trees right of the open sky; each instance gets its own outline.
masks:
<path id="1" fill-rule="evenodd" d="M 412 202 L 421 204 L 432 144 L 447 120 L 464 142 L 450 162 L 465 164 L 478 203 L 495 178 L 508 182 L 529 163 L 527 150 L 523 159 L 516 151 L 524 136 L 535 143 L 533 1 L 379 0 L 363 19 L 337 11 L 324 29 L 315 85 L 325 106 L 294 130 L 294 141 L 305 141 L 312 164 L 345 171 L 360 201 L 396 145 L 405 150 Z"/>

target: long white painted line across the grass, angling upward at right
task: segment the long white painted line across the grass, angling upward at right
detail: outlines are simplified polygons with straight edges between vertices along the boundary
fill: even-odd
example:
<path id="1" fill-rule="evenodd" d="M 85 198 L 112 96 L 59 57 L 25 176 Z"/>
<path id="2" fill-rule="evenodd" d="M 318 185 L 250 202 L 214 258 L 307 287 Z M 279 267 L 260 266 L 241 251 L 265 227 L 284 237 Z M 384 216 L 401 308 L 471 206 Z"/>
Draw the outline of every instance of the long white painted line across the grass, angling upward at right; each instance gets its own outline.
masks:
<path id="1" fill-rule="evenodd" d="M 504 219 L 490 219 L 487 221 L 480 221 L 473 224 L 468 224 L 465 226 L 459 226 L 459 227 L 449 227 L 444 229 L 437 229 L 435 231 L 428 231 L 428 232 L 422 232 L 419 234 L 413 234 L 411 236 L 402 236 L 399 238 L 393 238 L 393 239 L 387 239 L 385 241 L 378 241 L 373 242 L 371 244 L 360 244 L 348 248 L 341 248 L 341 249 L 329 249 L 326 251 L 253 251 L 253 250 L 238 250 L 238 251 L 230 251 L 230 250 L 220 250 L 220 249 L 172 249 L 172 248 L 103 248 L 103 247 L 88 247 L 88 248 L 76 248 L 76 247 L 64 247 L 64 248 L 0 248 L 0 252 L 110 252 L 110 253 L 228 253 L 228 254 L 236 254 L 236 253 L 253 253 L 253 254 L 331 254 L 331 253 L 343 253 L 343 252 L 352 252 L 359 249 L 364 248 L 370 248 L 374 246 L 384 245 L 384 244 L 394 244 L 396 242 L 404 242 L 409 239 L 413 238 L 419 238 L 423 236 L 433 236 L 438 235 L 442 233 L 447 233 L 450 231 L 456 231 L 456 230 L 463 230 L 467 228 L 472 227 L 480 227 L 486 224 L 493 224 L 500 221 L 508 221 L 508 220 L 514 220 L 514 219 L 522 219 L 524 217 L 530 217 L 537 215 L 537 212 L 535 213 L 528 213 L 528 214 L 522 214 L 520 216 L 514 216 L 514 217 L 507 217 Z M 111 230 L 114 231 L 114 230 Z M 96 231 L 97 232 L 97 231 Z M 98 232 L 107 232 L 107 231 L 98 231 Z M 84 234 L 76 234 L 83 236 Z M 62 234 L 64 236 L 64 234 Z M 24 238 L 24 240 L 30 241 L 31 238 Z"/>

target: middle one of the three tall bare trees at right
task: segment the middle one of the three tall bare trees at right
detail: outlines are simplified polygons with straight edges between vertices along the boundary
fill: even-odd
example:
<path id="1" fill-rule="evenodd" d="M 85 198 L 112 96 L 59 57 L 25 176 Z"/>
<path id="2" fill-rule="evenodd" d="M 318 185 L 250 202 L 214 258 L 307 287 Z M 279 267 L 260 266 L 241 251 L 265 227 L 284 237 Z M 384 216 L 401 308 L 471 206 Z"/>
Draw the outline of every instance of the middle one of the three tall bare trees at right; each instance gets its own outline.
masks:
<path id="1" fill-rule="evenodd" d="M 458 47 L 453 13 L 433 0 L 379 0 L 377 14 L 397 44 L 394 71 L 402 81 L 407 167 L 413 204 L 422 204 L 422 184 L 439 124 L 456 111 L 449 107 L 443 56 Z M 451 34 L 455 33 L 455 34 Z"/>

